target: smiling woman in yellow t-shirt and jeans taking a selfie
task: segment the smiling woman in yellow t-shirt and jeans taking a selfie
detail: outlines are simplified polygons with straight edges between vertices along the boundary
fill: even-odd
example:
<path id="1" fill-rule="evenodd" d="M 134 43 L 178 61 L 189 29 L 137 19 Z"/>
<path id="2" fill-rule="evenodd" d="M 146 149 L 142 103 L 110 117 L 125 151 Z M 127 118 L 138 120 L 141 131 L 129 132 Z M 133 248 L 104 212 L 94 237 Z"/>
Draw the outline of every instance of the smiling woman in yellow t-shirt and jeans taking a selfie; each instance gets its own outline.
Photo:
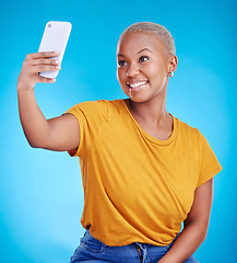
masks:
<path id="1" fill-rule="evenodd" d="M 32 147 L 79 156 L 86 231 L 71 263 L 198 262 L 222 168 L 200 132 L 166 111 L 178 64 L 170 33 L 142 22 L 120 36 L 117 76 L 129 99 L 80 103 L 47 121 L 34 85 L 55 81 L 38 76 L 60 69 L 52 56 L 27 55 L 19 108 Z"/>

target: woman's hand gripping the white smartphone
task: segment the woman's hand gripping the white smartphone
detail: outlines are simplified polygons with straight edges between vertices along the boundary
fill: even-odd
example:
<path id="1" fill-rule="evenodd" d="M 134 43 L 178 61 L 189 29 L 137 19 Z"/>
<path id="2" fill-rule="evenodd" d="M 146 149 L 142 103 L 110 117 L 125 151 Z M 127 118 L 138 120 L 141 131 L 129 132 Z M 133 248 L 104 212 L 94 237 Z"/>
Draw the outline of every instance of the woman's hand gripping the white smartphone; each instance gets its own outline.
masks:
<path id="1" fill-rule="evenodd" d="M 48 79 L 38 73 L 60 70 L 60 60 L 49 59 L 58 55 L 59 53 L 56 52 L 28 54 L 19 76 L 17 90 L 31 90 L 35 87 L 36 82 L 54 83 L 55 79 Z"/>

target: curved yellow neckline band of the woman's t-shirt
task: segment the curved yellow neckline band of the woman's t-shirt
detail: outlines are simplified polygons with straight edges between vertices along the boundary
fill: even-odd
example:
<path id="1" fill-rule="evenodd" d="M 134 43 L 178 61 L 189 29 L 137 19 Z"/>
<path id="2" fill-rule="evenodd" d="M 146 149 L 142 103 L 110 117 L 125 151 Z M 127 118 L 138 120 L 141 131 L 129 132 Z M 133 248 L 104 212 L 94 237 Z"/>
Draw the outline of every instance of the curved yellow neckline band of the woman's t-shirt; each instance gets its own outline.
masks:
<path id="1" fill-rule="evenodd" d="M 120 100 L 122 105 L 123 105 L 123 108 L 126 110 L 126 112 L 129 114 L 130 118 L 132 119 L 132 122 L 134 123 L 134 125 L 138 127 L 138 129 L 140 130 L 140 133 L 150 141 L 156 144 L 156 145 L 161 145 L 161 146 L 166 146 L 166 145 L 170 145 L 176 136 L 177 136 L 177 119 L 169 113 L 169 115 L 173 117 L 173 123 L 174 123 L 174 129 L 173 129 L 173 133 L 171 135 L 168 137 L 168 139 L 166 140 L 161 140 L 161 139 L 157 139 L 153 136 L 151 136 L 150 134 L 147 134 L 139 124 L 138 122 L 134 119 L 134 117 L 132 116 L 131 112 L 129 111 L 125 100 Z"/>

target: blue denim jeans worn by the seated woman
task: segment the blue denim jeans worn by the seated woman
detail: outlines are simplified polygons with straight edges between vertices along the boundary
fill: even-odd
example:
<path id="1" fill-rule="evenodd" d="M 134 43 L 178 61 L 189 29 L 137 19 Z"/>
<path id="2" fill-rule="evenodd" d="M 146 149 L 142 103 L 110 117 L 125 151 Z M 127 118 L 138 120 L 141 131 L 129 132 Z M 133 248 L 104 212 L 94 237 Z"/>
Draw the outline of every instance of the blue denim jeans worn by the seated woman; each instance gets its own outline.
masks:
<path id="1" fill-rule="evenodd" d="M 123 247 L 109 247 L 93 238 L 86 230 L 70 263 L 157 263 L 169 251 L 174 242 L 175 240 L 166 247 L 139 242 Z M 191 256 L 185 263 L 199 262 Z"/>

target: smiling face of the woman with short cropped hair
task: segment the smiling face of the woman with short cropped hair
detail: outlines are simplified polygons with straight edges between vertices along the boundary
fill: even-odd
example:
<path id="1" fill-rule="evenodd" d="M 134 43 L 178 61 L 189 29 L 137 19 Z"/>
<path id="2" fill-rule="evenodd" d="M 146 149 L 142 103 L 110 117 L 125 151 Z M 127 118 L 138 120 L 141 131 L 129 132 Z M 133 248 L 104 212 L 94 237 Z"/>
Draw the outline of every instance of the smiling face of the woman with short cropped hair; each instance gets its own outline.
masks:
<path id="1" fill-rule="evenodd" d="M 127 34 L 118 44 L 117 60 L 120 87 L 135 102 L 166 92 L 168 73 L 175 71 L 174 58 L 168 56 L 165 44 L 150 33 Z"/>

